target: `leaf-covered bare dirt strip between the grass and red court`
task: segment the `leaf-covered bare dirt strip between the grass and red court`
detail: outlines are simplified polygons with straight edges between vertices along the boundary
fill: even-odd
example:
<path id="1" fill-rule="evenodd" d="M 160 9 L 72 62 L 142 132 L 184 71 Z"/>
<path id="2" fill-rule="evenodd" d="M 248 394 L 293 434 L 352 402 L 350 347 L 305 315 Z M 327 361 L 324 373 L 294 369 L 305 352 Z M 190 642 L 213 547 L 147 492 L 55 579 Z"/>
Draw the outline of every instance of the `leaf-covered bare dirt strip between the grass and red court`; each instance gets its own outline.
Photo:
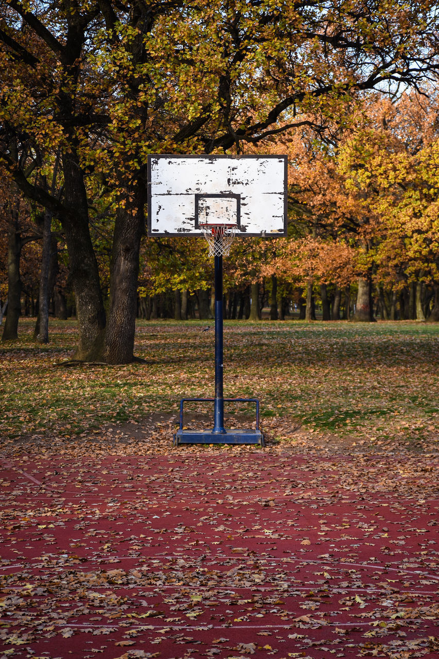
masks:
<path id="1" fill-rule="evenodd" d="M 256 421 L 251 415 L 225 415 L 226 428 L 254 428 Z M 188 413 L 184 427 L 193 430 L 212 428 L 212 415 Z M 117 453 L 119 455 L 167 454 L 175 450 L 203 451 L 205 445 L 185 445 L 173 448 L 173 434 L 179 428 L 178 413 L 154 413 L 138 422 L 105 423 L 96 430 L 86 430 L 80 435 L 28 434 L 15 439 L 0 439 L 5 455 L 20 453 L 90 454 Z M 297 419 L 288 417 L 262 418 L 260 428 L 264 433 L 266 448 L 273 451 L 289 451 L 291 454 L 308 455 L 355 455 L 359 453 L 392 455 L 395 453 L 436 454 L 439 447 L 439 434 L 432 433 L 422 442 L 395 436 L 392 440 L 365 440 L 352 433 L 340 437 L 329 433 L 314 432 L 301 426 Z M 222 446 L 222 445 L 219 445 Z M 218 447 L 217 447 L 218 448 Z M 231 447 L 229 447 L 231 448 Z M 254 449 L 250 447 L 241 447 Z"/>

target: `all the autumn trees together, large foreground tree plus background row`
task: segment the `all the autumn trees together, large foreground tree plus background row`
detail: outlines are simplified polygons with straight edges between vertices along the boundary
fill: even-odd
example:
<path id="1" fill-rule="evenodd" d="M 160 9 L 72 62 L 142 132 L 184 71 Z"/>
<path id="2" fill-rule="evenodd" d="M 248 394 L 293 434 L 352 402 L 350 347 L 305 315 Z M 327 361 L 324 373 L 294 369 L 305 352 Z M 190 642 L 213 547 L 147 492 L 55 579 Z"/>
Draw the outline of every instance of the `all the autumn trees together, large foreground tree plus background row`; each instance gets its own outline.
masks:
<path id="1" fill-rule="evenodd" d="M 85 360 L 132 360 L 139 310 L 207 313 L 204 243 L 141 242 L 150 153 L 289 156 L 289 237 L 236 239 L 230 316 L 437 320 L 436 5 L 363 4 L 3 3 L 3 337 L 26 289 Z"/>

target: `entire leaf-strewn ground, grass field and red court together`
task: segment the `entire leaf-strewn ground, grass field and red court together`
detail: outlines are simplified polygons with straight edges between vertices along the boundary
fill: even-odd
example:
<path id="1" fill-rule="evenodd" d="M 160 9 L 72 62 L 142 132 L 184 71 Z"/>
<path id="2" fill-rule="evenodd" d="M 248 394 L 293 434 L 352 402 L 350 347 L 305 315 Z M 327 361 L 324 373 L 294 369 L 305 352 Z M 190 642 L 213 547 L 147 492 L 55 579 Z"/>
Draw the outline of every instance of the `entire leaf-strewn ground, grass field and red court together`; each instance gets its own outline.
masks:
<path id="1" fill-rule="evenodd" d="M 128 366 L 32 329 L 1 350 L 2 659 L 437 659 L 437 326 L 225 322 L 265 449 L 172 447 L 208 323 L 140 322 Z"/>

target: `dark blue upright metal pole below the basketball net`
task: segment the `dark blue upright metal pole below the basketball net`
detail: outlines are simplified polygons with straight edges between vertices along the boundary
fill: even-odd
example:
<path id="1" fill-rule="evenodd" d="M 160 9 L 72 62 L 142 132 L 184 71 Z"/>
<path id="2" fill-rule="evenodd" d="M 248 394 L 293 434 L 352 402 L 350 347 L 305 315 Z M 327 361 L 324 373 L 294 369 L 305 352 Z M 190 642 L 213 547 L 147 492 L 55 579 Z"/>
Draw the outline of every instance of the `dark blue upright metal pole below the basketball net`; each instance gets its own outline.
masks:
<path id="1" fill-rule="evenodd" d="M 215 257 L 215 401 L 212 432 L 224 434 L 223 396 L 223 257 Z"/>

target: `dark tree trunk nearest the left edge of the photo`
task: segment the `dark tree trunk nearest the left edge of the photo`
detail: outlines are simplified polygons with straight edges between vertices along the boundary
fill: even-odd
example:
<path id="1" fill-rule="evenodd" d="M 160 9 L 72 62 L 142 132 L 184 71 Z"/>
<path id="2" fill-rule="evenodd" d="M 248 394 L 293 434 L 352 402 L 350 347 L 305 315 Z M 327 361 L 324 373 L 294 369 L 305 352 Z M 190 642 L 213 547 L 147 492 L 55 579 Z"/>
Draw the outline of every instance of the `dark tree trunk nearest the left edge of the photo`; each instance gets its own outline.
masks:
<path id="1" fill-rule="evenodd" d="M 15 341 L 18 339 L 18 318 L 21 314 L 21 280 L 20 256 L 22 241 L 18 230 L 18 210 L 11 209 L 8 221 L 8 306 L 3 328 L 2 341 Z"/>

